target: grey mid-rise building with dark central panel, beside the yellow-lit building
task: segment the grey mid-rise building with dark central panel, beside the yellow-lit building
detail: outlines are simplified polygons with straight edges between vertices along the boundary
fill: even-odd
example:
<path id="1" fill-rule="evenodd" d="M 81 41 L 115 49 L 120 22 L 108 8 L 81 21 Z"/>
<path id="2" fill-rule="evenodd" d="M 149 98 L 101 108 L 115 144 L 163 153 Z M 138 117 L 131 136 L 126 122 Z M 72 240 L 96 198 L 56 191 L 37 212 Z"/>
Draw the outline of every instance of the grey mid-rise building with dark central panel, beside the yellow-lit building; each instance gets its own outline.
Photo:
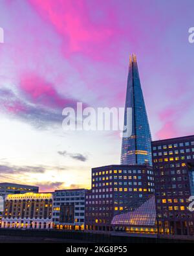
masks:
<path id="1" fill-rule="evenodd" d="M 86 189 L 54 191 L 52 221 L 56 229 L 84 229 L 86 192 Z"/>

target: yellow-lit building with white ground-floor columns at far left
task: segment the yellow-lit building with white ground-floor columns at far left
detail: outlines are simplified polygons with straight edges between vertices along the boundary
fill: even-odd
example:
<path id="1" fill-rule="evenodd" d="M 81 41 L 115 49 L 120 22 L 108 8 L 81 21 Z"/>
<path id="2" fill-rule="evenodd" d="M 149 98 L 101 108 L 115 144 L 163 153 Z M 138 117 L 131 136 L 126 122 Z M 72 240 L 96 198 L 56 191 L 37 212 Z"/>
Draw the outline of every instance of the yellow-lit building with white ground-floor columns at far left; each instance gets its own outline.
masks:
<path id="1" fill-rule="evenodd" d="M 51 229 L 52 193 L 6 195 L 1 227 Z"/>

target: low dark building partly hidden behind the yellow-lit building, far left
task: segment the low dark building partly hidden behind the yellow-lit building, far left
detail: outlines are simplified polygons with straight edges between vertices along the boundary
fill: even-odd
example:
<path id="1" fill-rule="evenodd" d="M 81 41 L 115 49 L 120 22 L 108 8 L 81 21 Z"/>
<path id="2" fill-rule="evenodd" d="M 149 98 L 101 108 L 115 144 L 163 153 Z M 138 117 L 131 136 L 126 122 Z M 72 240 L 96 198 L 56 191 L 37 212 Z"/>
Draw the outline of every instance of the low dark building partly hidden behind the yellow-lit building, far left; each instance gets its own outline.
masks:
<path id="1" fill-rule="evenodd" d="M 0 183 L 0 196 L 3 196 L 3 198 L 5 198 L 6 194 L 22 194 L 27 192 L 37 193 L 38 191 L 39 187 L 36 186 L 15 183 Z"/>

